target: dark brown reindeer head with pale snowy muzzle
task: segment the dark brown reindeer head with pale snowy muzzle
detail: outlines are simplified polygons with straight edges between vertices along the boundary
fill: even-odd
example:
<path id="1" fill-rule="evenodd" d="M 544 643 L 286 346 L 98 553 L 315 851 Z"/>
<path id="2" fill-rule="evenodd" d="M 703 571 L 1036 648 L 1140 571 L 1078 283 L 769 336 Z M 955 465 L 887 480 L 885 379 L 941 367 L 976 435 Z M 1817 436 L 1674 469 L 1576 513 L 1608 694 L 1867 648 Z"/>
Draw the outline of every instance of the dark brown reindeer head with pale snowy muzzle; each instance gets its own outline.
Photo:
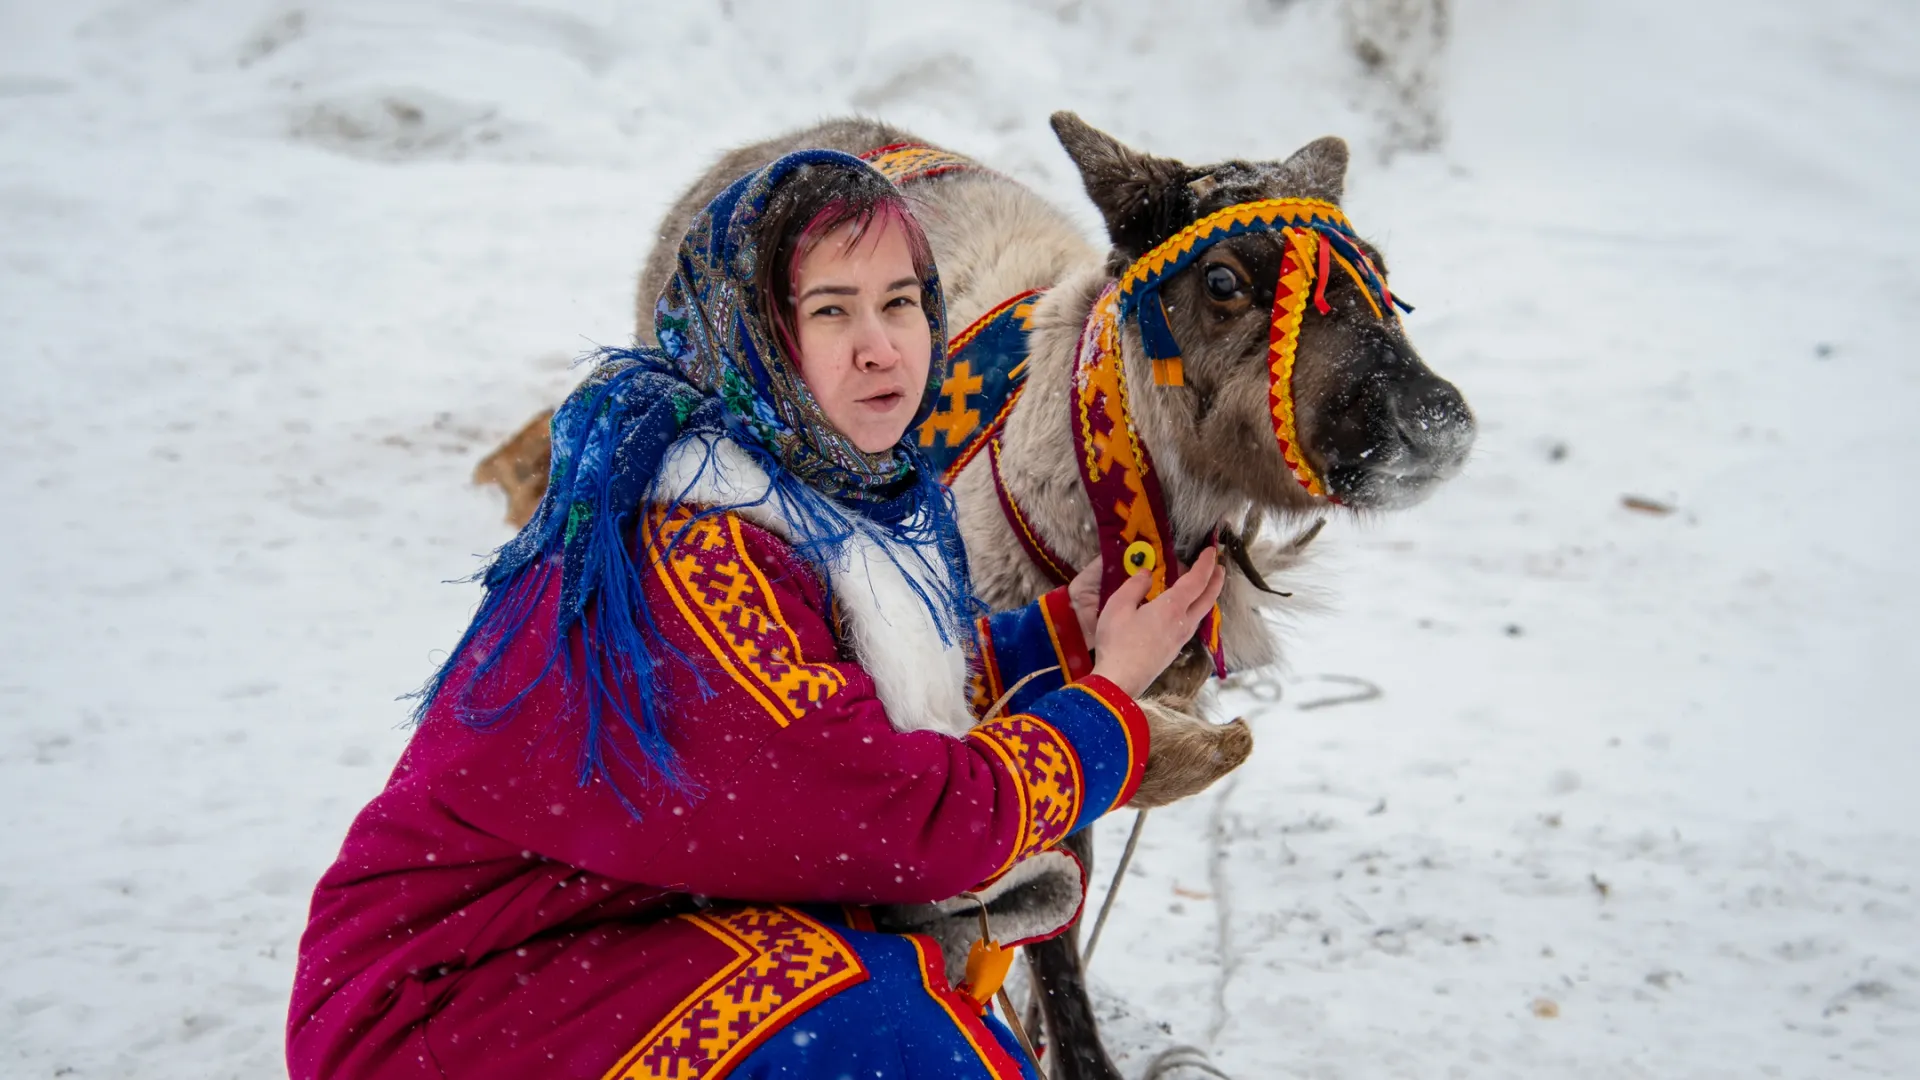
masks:
<path id="1" fill-rule="evenodd" d="M 1210 213 L 1277 198 L 1338 204 L 1346 184 L 1346 142 L 1331 136 L 1284 161 L 1192 167 L 1131 150 L 1069 111 L 1054 113 L 1052 125 L 1106 217 L 1116 277 Z M 1384 277 L 1379 250 L 1357 236 L 1352 242 Z M 1308 509 L 1319 500 L 1286 465 L 1269 405 L 1269 329 L 1284 252 L 1277 229 L 1242 233 L 1167 277 L 1160 304 L 1179 342 L 1183 384 L 1135 394 L 1142 415 L 1169 421 L 1154 434 L 1196 480 L 1256 503 Z M 1475 432 L 1459 390 L 1428 371 L 1379 300 L 1346 273 L 1325 275 L 1327 309 L 1308 306 L 1302 315 L 1290 380 L 1294 452 L 1331 498 L 1354 509 L 1427 498 L 1459 471 Z M 1140 348 L 1131 321 L 1123 340 Z"/>

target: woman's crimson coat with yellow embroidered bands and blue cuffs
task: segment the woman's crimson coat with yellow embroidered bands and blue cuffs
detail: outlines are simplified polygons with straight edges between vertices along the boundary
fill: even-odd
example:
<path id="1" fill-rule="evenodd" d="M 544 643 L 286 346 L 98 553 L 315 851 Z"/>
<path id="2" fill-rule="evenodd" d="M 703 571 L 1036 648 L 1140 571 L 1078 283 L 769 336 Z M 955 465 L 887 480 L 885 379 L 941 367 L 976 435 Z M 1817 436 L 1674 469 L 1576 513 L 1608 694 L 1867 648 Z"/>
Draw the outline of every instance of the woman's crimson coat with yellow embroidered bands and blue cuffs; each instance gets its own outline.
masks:
<path id="1" fill-rule="evenodd" d="M 634 1061 L 724 1074 L 864 974 L 803 909 L 745 917 L 710 897 L 947 899 L 1139 784 L 1144 719 L 1096 676 L 1035 680 L 1020 713 L 966 738 L 895 730 L 835 640 L 818 573 L 735 515 L 701 519 L 651 571 L 649 611 L 699 669 L 668 663 L 659 690 L 684 792 L 628 784 L 636 815 L 605 780 L 582 786 L 582 694 L 564 676 L 484 730 L 436 703 L 315 890 L 294 1080 L 597 1078 Z M 497 669 L 499 701 L 547 655 L 534 628 L 553 625 L 549 578 Z M 1039 667 L 1089 669 L 1062 594 L 983 623 L 981 698 Z"/>

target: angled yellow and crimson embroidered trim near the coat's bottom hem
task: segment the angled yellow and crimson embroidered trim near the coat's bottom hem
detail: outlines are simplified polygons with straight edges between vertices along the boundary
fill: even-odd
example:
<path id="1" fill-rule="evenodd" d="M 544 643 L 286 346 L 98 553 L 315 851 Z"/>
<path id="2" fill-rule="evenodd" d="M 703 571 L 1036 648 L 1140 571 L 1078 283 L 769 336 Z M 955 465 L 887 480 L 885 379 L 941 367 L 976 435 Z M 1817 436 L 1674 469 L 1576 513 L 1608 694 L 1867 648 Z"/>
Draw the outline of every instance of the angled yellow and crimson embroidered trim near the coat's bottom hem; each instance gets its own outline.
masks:
<path id="1" fill-rule="evenodd" d="M 733 959 L 674 1007 L 603 1080 L 726 1076 L 768 1036 L 820 1001 L 866 982 L 845 938 L 791 907 L 680 915 Z"/>

